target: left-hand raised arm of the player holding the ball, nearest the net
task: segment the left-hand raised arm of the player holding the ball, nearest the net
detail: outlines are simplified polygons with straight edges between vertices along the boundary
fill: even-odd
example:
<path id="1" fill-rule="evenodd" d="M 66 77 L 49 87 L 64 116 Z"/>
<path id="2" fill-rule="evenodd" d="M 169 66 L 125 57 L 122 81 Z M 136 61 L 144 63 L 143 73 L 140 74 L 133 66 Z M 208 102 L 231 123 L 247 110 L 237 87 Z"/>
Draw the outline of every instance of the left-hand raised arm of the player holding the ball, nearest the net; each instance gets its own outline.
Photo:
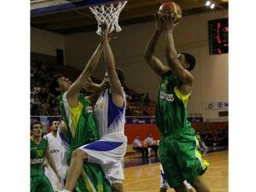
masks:
<path id="1" fill-rule="evenodd" d="M 152 37 L 148 41 L 147 48 L 144 53 L 144 58 L 148 62 L 149 67 L 151 67 L 154 73 L 158 74 L 160 77 L 170 71 L 169 67 L 166 67 L 158 57 L 155 56 L 155 48 L 160 34 L 164 31 L 164 20 L 156 16 L 155 29 Z"/>

